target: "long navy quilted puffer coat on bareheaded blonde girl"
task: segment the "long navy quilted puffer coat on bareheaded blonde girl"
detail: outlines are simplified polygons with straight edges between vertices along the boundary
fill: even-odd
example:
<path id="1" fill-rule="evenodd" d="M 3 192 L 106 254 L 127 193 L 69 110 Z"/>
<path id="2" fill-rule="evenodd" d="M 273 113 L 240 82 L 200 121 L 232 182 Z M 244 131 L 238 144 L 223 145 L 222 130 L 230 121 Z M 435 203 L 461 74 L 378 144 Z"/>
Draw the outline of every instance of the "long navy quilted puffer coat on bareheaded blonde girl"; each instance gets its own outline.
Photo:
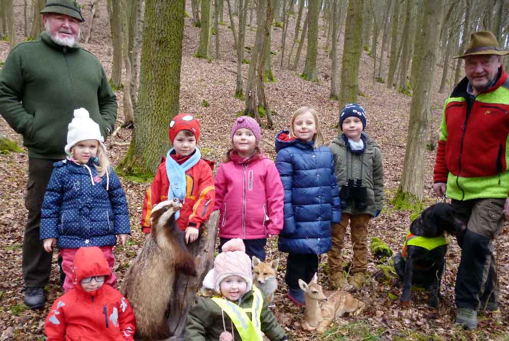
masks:
<path id="1" fill-rule="evenodd" d="M 276 135 L 276 168 L 285 190 L 285 221 L 279 233 L 281 252 L 322 254 L 330 250 L 330 224 L 340 222 L 340 198 L 334 175 L 334 157 L 328 147 L 313 148 Z"/>

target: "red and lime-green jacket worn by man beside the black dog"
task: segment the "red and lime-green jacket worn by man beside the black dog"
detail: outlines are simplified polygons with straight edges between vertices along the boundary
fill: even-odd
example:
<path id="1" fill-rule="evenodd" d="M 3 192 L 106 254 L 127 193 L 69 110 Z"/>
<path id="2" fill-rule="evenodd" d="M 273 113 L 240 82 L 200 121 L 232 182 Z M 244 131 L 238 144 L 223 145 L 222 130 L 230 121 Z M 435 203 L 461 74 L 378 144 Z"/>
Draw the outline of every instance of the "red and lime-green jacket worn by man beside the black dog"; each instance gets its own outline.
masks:
<path id="1" fill-rule="evenodd" d="M 433 180 L 456 200 L 506 198 L 509 190 L 509 79 L 472 97 L 465 77 L 444 104 Z"/>

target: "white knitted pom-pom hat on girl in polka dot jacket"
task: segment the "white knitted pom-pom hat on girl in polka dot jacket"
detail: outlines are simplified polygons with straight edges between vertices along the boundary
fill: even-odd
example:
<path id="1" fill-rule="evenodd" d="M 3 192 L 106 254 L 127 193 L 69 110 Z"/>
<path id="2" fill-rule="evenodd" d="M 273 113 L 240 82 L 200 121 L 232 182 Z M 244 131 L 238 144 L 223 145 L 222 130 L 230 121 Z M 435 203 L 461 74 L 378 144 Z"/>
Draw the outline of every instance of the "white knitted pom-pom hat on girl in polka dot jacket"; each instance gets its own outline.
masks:
<path id="1" fill-rule="evenodd" d="M 70 153 L 74 145 L 84 140 L 98 140 L 101 147 L 106 150 L 99 125 L 90 118 L 87 109 L 79 108 L 74 110 L 74 118 L 69 123 L 65 152 Z"/>

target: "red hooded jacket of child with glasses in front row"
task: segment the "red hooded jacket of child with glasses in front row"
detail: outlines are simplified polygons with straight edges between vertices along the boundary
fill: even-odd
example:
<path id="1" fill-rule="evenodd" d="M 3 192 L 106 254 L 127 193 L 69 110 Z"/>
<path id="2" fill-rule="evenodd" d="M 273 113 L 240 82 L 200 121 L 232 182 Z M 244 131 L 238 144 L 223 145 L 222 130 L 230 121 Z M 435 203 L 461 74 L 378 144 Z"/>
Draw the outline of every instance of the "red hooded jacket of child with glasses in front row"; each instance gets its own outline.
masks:
<path id="1" fill-rule="evenodd" d="M 81 247 L 74 257 L 74 288 L 56 299 L 44 325 L 47 341 L 131 341 L 136 322 L 127 299 L 104 285 L 86 292 L 81 279 L 110 276 L 108 263 L 97 246 Z M 106 279 L 105 279 L 106 281 Z"/>

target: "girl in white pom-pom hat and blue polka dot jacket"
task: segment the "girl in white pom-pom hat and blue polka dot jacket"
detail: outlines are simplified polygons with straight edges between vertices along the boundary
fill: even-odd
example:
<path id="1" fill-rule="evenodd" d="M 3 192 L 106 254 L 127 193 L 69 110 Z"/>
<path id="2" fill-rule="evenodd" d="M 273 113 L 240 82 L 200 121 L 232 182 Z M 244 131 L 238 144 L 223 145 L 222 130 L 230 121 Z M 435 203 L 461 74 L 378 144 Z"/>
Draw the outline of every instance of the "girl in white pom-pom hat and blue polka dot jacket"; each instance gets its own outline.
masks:
<path id="1" fill-rule="evenodd" d="M 125 245 L 131 233 L 126 195 L 109 166 L 103 141 L 87 109 L 74 110 L 65 146 L 67 159 L 53 164 L 44 194 L 40 238 L 47 252 L 55 244 L 60 248 L 66 292 L 76 284 L 72 278 L 78 248 L 98 246 L 111 270 L 114 245 L 119 240 Z M 115 273 L 106 284 L 117 286 Z"/>

